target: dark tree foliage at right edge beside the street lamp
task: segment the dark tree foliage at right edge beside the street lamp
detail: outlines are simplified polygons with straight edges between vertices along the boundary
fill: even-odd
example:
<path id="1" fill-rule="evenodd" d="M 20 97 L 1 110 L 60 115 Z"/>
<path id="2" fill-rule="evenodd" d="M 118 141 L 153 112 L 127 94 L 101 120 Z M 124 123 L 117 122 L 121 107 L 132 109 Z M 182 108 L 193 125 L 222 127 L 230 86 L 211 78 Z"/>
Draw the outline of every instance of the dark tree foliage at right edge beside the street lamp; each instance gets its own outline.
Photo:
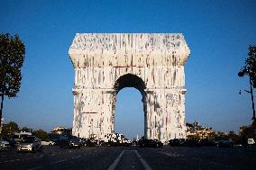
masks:
<path id="1" fill-rule="evenodd" d="M 248 58 L 245 59 L 245 66 L 242 67 L 239 76 L 244 74 L 251 77 L 251 83 L 256 88 L 256 46 L 251 45 L 248 49 Z"/>

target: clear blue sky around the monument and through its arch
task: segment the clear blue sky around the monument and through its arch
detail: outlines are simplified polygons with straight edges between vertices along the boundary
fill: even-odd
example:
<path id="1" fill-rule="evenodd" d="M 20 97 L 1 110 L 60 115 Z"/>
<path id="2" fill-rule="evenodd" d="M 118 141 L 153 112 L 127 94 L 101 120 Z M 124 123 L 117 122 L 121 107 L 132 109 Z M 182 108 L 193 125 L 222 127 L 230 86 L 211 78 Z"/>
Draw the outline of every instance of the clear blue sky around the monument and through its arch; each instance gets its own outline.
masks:
<path id="1" fill-rule="evenodd" d="M 250 94 L 243 92 L 249 80 L 237 73 L 249 44 L 256 44 L 255 28 L 254 0 L 1 0 L 0 32 L 19 34 L 26 46 L 21 91 L 5 98 L 5 122 L 47 131 L 72 126 L 68 50 L 75 33 L 180 32 L 191 50 L 185 67 L 187 121 L 237 131 L 251 123 Z M 142 134 L 139 91 L 124 88 L 117 97 L 116 130 L 129 138 Z"/>

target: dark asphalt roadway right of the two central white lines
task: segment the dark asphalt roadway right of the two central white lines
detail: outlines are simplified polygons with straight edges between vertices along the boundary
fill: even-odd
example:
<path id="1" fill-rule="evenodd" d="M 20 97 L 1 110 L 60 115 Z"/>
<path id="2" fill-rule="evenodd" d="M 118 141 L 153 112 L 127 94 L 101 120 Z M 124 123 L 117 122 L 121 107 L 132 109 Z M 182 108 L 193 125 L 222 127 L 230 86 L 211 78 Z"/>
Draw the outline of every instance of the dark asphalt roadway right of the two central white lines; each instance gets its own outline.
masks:
<path id="1" fill-rule="evenodd" d="M 254 157 L 242 148 L 140 148 L 152 169 L 255 169 Z M 254 152 L 255 154 L 255 152 Z M 224 155 L 224 156 L 223 156 Z M 228 157 L 226 157 L 228 156 Z M 250 158 L 251 157 L 251 158 Z"/>

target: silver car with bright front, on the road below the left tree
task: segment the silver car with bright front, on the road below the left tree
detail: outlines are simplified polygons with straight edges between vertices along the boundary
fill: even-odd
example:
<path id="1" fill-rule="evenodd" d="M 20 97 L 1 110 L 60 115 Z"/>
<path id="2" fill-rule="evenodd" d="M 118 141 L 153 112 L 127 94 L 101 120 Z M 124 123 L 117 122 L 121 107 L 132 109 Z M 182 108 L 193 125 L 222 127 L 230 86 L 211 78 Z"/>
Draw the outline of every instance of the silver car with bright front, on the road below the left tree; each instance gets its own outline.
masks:
<path id="1" fill-rule="evenodd" d="M 41 140 L 35 136 L 27 136 L 20 141 L 17 147 L 18 152 L 36 152 L 42 151 Z"/>

